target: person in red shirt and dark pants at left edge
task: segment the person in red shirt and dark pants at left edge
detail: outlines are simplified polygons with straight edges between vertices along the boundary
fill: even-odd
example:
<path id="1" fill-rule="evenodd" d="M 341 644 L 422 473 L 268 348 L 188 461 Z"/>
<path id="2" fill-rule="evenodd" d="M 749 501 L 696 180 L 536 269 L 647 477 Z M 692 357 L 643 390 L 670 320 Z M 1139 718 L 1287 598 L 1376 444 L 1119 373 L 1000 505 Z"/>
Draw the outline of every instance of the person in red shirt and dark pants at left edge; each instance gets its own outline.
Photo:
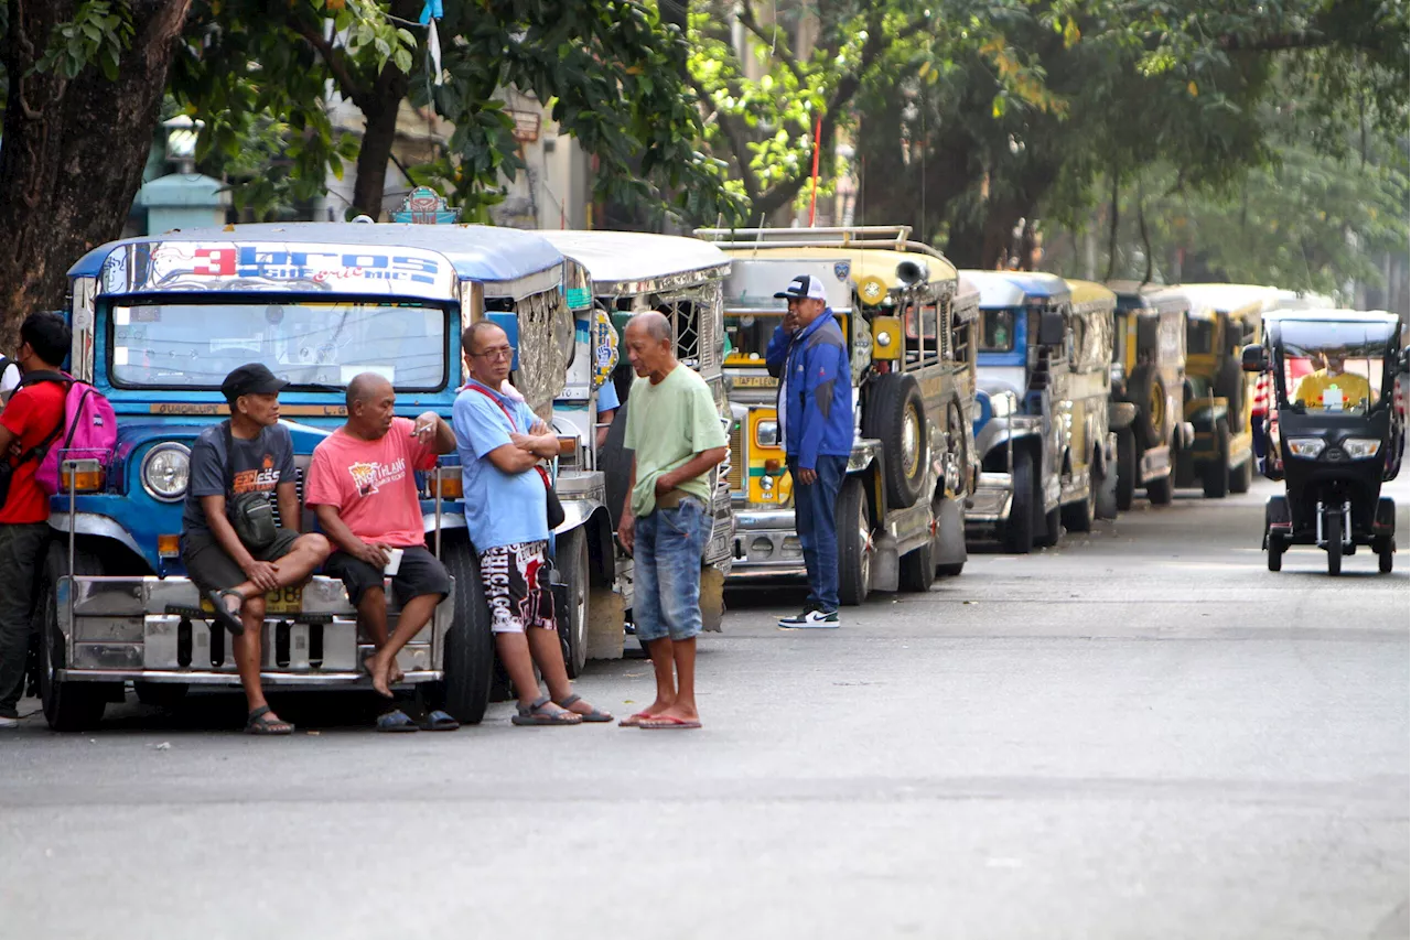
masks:
<path id="1" fill-rule="evenodd" d="M 58 313 L 25 318 L 16 356 L 24 380 L 0 412 L 0 462 L 10 473 L 10 488 L 0 497 L 0 728 L 20 724 L 34 589 L 49 543 L 49 497 L 34 474 L 63 425 L 68 382 L 59 366 L 71 340 L 69 325 Z M 44 373 L 52 373 L 54 381 L 45 381 Z"/>

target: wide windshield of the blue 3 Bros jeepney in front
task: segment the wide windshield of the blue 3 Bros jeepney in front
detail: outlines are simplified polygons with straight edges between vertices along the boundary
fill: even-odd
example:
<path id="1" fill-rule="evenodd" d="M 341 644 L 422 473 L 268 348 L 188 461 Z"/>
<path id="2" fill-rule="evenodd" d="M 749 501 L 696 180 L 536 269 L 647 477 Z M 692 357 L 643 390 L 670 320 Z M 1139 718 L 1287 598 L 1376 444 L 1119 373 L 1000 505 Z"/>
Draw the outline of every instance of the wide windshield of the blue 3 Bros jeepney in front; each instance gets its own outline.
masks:
<path id="1" fill-rule="evenodd" d="M 385 375 L 399 391 L 446 387 L 444 308 L 418 302 L 176 302 L 113 306 L 109 375 L 126 388 L 219 388 L 264 363 L 299 385 Z"/>

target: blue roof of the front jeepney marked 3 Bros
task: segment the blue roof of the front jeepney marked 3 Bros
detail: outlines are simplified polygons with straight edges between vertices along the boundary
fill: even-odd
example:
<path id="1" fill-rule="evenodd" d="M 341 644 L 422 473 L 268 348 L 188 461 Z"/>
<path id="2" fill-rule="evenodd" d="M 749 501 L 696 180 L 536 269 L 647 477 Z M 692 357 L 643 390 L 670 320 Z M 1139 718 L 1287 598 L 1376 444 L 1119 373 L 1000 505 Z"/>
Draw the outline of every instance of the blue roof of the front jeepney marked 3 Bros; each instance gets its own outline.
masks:
<path id="1" fill-rule="evenodd" d="M 512 285 L 523 278 L 555 270 L 557 270 L 555 282 L 559 282 L 563 270 L 563 255 L 557 248 L 536 233 L 519 229 L 468 224 L 288 222 L 227 226 L 224 229 L 186 229 L 110 241 L 79 258 L 69 268 L 69 277 L 99 277 L 107 258 L 126 246 L 202 241 L 216 246 L 261 243 L 416 248 L 442 255 L 450 263 L 460 279 L 484 284 Z M 509 296 L 514 292 L 487 289 L 485 294 L 487 296 Z"/>

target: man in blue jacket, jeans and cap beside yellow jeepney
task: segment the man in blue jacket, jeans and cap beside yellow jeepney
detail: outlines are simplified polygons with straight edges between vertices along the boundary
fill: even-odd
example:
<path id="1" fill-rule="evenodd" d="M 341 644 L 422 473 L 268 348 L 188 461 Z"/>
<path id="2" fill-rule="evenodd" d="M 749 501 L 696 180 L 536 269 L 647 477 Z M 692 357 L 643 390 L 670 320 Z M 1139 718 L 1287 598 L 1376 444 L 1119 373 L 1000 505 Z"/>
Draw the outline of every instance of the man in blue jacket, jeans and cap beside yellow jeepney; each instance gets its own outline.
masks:
<path id="1" fill-rule="evenodd" d="M 800 274 L 775 294 L 789 301 L 765 354 L 779 378 L 779 436 L 794 481 L 794 529 L 809 569 L 809 601 L 780 627 L 838 627 L 838 528 L 834 504 L 852 453 L 852 375 L 842 329 L 823 282 Z"/>

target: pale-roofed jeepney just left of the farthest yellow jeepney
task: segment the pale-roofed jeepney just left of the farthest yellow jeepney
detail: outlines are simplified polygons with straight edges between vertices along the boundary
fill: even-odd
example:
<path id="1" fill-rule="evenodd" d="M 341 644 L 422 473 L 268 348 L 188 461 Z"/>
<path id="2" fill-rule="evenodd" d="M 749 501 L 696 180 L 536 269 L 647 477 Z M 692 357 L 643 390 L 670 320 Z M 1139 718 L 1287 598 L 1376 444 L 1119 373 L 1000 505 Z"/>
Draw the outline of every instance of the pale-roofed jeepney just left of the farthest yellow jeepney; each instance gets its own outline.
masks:
<path id="1" fill-rule="evenodd" d="M 1167 288 L 1118 281 L 1112 336 L 1112 399 L 1136 409 L 1118 430 L 1118 508 L 1132 508 L 1139 487 L 1153 505 L 1171 502 L 1175 457 L 1195 438 L 1184 416 L 1185 312 L 1189 303 Z"/>

